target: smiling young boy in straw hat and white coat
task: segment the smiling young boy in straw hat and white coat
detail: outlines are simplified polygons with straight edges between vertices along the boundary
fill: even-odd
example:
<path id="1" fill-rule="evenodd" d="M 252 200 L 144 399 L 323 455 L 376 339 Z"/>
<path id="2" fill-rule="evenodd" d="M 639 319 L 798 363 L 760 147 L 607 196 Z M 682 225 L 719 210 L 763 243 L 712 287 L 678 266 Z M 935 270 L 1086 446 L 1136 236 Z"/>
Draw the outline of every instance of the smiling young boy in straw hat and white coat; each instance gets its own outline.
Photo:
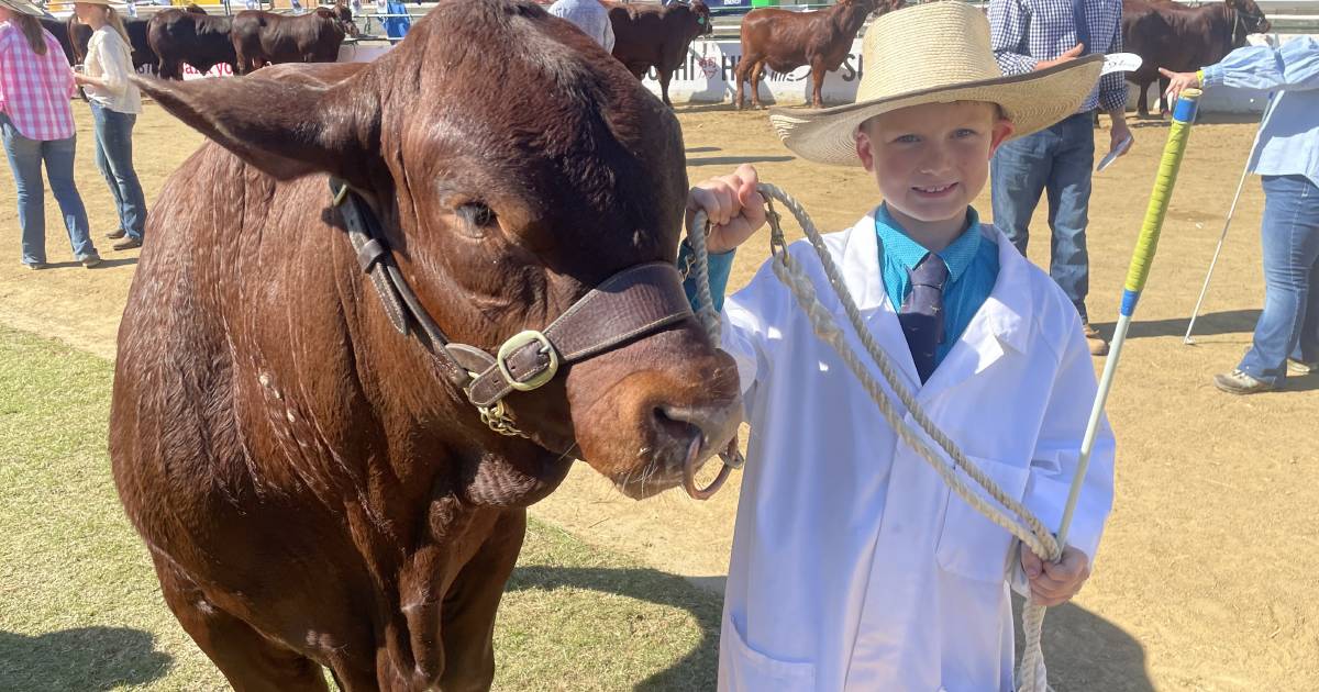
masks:
<path id="1" fill-rule="evenodd" d="M 935 424 L 1057 529 L 1096 389 L 1089 351 L 1062 290 L 969 203 L 995 148 L 1072 113 L 1100 58 L 1001 78 L 984 16 L 931 3 L 878 18 L 864 61 L 857 103 L 770 120 L 798 156 L 876 177 L 884 203 L 826 236 L 847 290 Z M 765 223 L 756 183 L 743 166 L 689 195 L 689 224 L 695 210 L 714 224 L 720 294 L 731 250 Z M 814 250 L 790 252 L 864 355 Z M 1045 605 L 1086 581 L 1112 504 L 1108 427 L 1071 544 L 1041 564 L 898 442 L 768 262 L 723 323 L 752 435 L 720 689 L 1010 691 L 1008 581 Z"/>

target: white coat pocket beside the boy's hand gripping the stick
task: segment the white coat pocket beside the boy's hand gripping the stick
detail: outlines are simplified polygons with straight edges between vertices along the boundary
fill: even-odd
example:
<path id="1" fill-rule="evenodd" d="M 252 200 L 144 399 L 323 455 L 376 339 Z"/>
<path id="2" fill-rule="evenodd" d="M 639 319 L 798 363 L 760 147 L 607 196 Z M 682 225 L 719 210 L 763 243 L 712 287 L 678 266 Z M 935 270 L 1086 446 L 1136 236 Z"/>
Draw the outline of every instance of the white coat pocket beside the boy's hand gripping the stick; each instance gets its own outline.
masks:
<path id="1" fill-rule="evenodd" d="M 1004 493 L 1021 500 L 1026 490 L 1026 478 L 1030 476 L 1029 468 L 979 456 L 968 459 Z M 962 478 L 971 488 L 977 488 L 977 484 L 967 476 L 962 475 Z M 988 498 L 984 492 L 977 494 Z M 997 502 L 988 502 L 997 506 Z M 1008 548 L 1012 546 L 1012 539 L 1006 529 L 989 521 L 980 514 L 980 510 L 962 500 L 962 496 L 950 490 L 948 510 L 943 518 L 939 547 L 935 551 L 939 567 L 946 572 L 977 581 L 1002 581 L 1006 577 Z"/>

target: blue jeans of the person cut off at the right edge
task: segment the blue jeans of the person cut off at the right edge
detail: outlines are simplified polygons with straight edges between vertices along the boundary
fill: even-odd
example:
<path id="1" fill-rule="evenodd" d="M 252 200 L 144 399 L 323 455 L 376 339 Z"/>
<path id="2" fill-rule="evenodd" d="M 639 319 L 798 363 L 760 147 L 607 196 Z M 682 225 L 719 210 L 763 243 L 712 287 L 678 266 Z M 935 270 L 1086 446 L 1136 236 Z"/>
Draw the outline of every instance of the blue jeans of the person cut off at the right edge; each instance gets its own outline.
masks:
<path id="1" fill-rule="evenodd" d="M 1237 368 L 1269 384 L 1287 357 L 1319 361 L 1319 187 L 1304 175 L 1264 177 L 1264 312 Z"/>

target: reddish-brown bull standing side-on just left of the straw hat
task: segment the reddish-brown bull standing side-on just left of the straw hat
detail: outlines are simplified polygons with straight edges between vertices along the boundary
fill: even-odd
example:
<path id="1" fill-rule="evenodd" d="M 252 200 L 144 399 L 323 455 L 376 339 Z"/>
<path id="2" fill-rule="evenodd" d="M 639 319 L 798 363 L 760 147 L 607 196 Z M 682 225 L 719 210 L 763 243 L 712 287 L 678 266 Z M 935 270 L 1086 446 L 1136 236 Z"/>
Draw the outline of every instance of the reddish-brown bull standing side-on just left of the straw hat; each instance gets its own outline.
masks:
<path id="1" fill-rule="evenodd" d="M 789 12 L 760 8 L 743 17 L 741 59 L 733 70 L 737 80 L 737 108 L 743 107 L 743 82 L 751 82 L 751 104 L 760 103 L 760 78 L 768 65 L 778 74 L 803 65 L 811 66 L 811 105 L 820 108 L 824 74 L 838 70 L 852 49 L 856 33 L 872 12 L 889 12 L 904 0 L 839 0 L 816 12 Z M 878 69 L 874 66 L 873 69 Z"/>

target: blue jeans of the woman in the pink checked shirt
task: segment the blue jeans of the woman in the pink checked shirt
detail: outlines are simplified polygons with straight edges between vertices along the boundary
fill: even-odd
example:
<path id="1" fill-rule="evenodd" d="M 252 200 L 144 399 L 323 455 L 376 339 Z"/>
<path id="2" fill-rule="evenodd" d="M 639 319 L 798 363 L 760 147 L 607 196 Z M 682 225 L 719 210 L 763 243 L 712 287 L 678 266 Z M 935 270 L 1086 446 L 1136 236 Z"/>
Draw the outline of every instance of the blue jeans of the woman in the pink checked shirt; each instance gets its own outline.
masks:
<path id="1" fill-rule="evenodd" d="M 41 162 L 46 162 L 50 192 L 59 203 L 69 229 L 69 243 L 74 257 L 84 260 L 96 254 L 96 245 L 87 232 L 87 208 L 83 207 L 74 185 L 74 153 L 77 134 L 67 140 L 29 140 L 18 133 L 9 116 L 0 113 L 0 140 L 13 171 L 13 186 L 18 196 L 18 228 L 22 229 L 22 262 L 46 262 L 46 188 L 41 182 Z"/>

